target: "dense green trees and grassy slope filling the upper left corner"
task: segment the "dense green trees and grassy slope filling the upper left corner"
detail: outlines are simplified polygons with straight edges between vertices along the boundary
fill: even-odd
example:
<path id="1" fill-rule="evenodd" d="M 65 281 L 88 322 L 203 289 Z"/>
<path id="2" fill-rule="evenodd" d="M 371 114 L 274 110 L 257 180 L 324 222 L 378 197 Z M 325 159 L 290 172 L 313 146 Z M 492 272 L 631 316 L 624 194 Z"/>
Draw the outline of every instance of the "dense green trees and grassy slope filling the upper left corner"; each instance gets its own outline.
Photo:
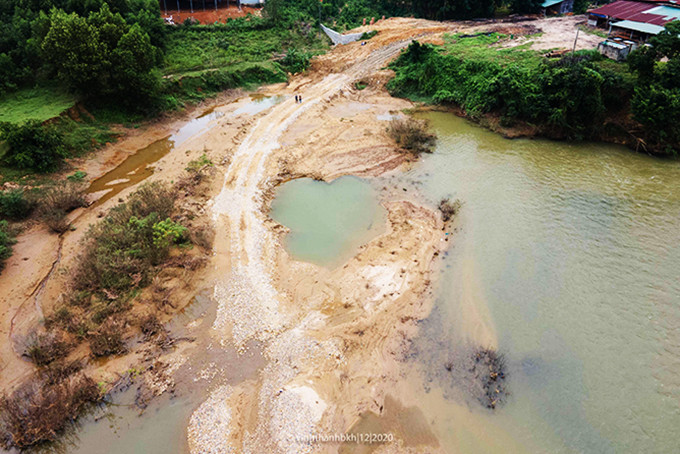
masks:
<path id="1" fill-rule="evenodd" d="M 248 16 L 168 27 L 156 0 L 2 2 L 3 177 L 53 171 L 64 158 L 113 140 L 111 123 L 130 124 L 228 88 L 282 82 L 325 47 L 303 21 Z M 76 101 L 75 116 L 69 112 L 76 121 L 43 124 Z"/>

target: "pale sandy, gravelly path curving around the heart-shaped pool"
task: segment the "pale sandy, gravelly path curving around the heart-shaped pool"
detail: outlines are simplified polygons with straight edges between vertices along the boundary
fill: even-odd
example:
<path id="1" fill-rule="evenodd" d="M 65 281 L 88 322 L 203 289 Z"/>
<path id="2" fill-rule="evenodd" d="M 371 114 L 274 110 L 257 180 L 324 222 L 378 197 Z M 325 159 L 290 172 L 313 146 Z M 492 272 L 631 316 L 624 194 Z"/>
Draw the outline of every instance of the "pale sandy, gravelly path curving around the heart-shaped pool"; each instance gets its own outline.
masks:
<path id="1" fill-rule="evenodd" d="M 441 30 L 438 24 L 436 31 Z M 372 137 L 368 143 L 384 144 L 384 125 L 375 114 L 356 128 L 342 129 L 323 120 L 315 123 L 315 117 L 325 115 L 332 122 L 330 106 L 349 117 L 362 111 L 352 109 L 362 96 L 353 93 L 353 82 L 379 72 L 409 44 L 408 35 L 426 31 L 412 29 L 404 36 L 400 29 L 387 42 L 336 49 L 331 58 L 343 72 L 293 82 L 304 102 L 288 99 L 273 107 L 232 156 L 213 205 L 217 236 L 229 238 L 229 248 L 218 254 L 229 254 L 231 269 L 217 275 L 212 334 L 224 346 L 233 342 L 243 347 L 257 339 L 264 343 L 269 362 L 258 380 L 216 387 L 196 410 L 188 428 L 192 452 L 316 452 L 319 446 L 298 439 L 320 431 L 344 433 L 363 412 L 382 411 L 381 402 L 399 380 L 399 360 L 408 348 L 405 339 L 415 334 L 416 321 L 429 312 L 424 297 L 428 276 L 438 252 L 446 247 L 439 216 L 410 202 L 390 203 L 388 232 L 329 272 L 292 261 L 280 246 L 282 231 L 263 209 L 281 171 L 277 159 L 315 162 L 316 174 L 324 178 L 338 175 L 332 164 L 353 173 L 375 168 L 378 162 L 383 171 L 394 168 L 384 156 L 398 155 L 394 150 L 382 155 L 357 148 L 351 156 L 336 152 L 344 150 L 345 142 L 356 143 L 361 134 Z M 335 115 L 340 117 L 335 121 L 343 121 L 343 115 Z M 298 138 L 288 137 L 293 125 L 301 131 Z M 282 147 L 284 135 L 296 145 Z M 216 425 L 219 431 L 206 429 Z M 427 448 L 434 451 L 436 446 Z"/>

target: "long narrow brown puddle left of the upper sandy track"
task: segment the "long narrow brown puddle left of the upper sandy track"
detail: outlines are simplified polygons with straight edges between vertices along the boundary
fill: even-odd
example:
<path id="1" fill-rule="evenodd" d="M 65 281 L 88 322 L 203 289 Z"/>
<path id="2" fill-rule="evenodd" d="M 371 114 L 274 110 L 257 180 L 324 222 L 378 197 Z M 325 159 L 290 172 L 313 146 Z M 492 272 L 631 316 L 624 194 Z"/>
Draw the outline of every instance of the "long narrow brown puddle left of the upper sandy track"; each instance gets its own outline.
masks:
<path id="1" fill-rule="evenodd" d="M 107 192 L 92 207 L 101 205 L 118 195 L 125 188 L 129 188 L 153 175 L 152 164 L 190 138 L 208 131 L 210 123 L 222 115 L 224 115 L 222 112 L 215 112 L 214 109 L 204 112 L 200 117 L 182 126 L 175 134 L 140 148 L 118 167 L 94 180 L 87 189 L 88 194 Z"/>

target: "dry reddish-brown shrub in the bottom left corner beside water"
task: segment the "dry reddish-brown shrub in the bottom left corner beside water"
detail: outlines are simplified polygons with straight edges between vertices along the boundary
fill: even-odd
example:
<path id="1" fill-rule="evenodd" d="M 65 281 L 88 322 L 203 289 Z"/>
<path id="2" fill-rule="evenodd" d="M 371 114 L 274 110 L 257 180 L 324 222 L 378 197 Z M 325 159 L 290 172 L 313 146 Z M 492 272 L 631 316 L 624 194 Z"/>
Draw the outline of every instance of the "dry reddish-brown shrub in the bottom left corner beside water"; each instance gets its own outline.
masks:
<path id="1" fill-rule="evenodd" d="M 0 398 L 0 443 L 10 449 L 54 440 L 85 405 L 100 398 L 97 384 L 85 375 L 36 376 Z"/>

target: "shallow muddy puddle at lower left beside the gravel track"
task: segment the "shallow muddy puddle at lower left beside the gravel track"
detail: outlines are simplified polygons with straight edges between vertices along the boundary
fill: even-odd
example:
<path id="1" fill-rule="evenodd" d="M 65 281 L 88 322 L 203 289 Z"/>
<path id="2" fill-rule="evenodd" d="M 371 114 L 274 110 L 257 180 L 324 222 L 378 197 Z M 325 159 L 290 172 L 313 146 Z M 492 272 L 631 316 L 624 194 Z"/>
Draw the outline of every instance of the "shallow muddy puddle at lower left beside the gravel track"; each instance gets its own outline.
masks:
<path id="1" fill-rule="evenodd" d="M 165 454 L 188 453 L 186 428 L 193 411 L 210 391 L 224 384 L 251 379 L 264 367 L 261 347 L 213 346 L 210 327 L 216 305 L 202 292 L 166 328 L 175 338 L 194 339 L 184 351 L 187 361 L 173 375 L 175 392 L 152 400 L 144 412 L 135 406 L 139 383 L 111 396 L 110 403 L 79 418 L 56 442 L 31 452 L 38 454 Z M 186 342 L 186 341 L 180 341 Z M 184 344 L 186 345 L 186 344 Z"/>

